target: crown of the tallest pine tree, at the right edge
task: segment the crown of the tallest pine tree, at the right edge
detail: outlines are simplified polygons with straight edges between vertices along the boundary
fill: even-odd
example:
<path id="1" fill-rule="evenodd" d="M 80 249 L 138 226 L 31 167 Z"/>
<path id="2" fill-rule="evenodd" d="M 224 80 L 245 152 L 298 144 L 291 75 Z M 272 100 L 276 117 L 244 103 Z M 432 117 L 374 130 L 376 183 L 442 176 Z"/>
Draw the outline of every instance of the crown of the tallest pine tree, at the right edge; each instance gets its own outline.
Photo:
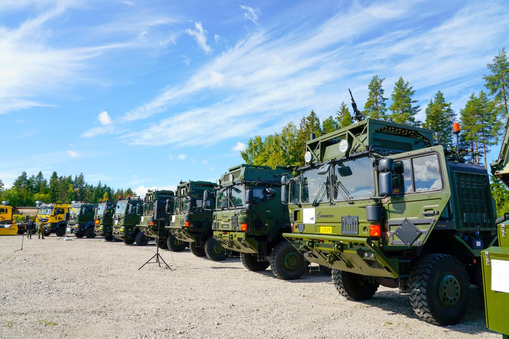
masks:
<path id="1" fill-rule="evenodd" d="M 490 95 L 495 95 L 495 101 L 501 106 L 505 116 L 509 114 L 509 60 L 505 48 L 502 48 L 493 59 L 493 64 L 487 65 L 491 74 L 485 75 L 485 86 Z"/>

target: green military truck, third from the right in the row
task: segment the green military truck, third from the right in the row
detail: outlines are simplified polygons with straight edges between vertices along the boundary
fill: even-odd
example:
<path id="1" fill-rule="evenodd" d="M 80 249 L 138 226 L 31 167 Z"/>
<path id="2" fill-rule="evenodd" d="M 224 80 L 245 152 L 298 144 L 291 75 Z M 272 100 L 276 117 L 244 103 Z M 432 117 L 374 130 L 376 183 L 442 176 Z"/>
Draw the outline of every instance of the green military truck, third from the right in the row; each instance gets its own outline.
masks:
<path id="1" fill-rule="evenodd" d="M 206 199 L 203 193 L 212 192 L 215 184 L 208 181 L 180 181 L 175 192 L 174 211 L 166 229 L 179 242 L 169 242 L 168 248 L 182 251 L 189 243 L 189 250 L 197 257 L 219 261 L 228 258 L 221 245 L 212 236 L 212 208 L 214 201 Z M 166 204 L 166 212 L 171 213 L 171 202 Z M 205 208 L 204 208 L 205 207 Z"/>

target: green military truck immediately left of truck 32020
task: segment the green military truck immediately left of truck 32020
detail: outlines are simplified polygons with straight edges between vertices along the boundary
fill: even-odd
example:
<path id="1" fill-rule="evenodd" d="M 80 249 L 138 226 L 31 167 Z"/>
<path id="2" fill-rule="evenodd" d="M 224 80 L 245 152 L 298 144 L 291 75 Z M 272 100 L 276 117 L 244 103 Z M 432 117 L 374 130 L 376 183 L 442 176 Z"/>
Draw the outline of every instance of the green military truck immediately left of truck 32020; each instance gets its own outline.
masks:
<path id="1" fill-rule="evenodd" d="M 286 167 L 238 165 L 217 181 L 212 229 L 226 249 L 240 252 L 244 267 L 269 267 L 279 279 L 299 279 L 307 261 L 282 237 L 290 231 L 288 206 L 280 201 Z M 206 200 L 204 196 L 204 200 Z"/>

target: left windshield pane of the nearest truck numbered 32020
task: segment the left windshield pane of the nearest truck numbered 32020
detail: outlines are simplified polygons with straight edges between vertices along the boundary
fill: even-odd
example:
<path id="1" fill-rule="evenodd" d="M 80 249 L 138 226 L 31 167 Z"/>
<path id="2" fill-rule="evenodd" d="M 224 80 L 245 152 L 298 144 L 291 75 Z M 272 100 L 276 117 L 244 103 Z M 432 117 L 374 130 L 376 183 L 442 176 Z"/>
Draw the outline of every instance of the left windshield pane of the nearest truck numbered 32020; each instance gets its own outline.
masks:
<path id="1" fill-rule="evenodd" d="M 302 173 L 301 182 L 301 202 L 320 203 L 323 200 L 329 200 L 329 175 L 318 174 L 320 168 L 311 169 Z"/>

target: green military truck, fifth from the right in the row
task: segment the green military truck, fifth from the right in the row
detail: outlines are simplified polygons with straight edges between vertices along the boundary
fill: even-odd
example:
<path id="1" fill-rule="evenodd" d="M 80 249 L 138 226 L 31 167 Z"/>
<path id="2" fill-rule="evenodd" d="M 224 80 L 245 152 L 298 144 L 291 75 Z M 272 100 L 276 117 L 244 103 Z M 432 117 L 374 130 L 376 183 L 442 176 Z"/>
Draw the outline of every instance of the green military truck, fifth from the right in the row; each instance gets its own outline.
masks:
<path id="1" fill-rule="evenodd" d="M 124 241 L 127 245 L 132 245 L 134 242 L 139 246 L 146 245 L 149 243 L 149 238 L 136 226 L 141 217 L 141 214 L 137 213 L 138 208 L 136 207 L 138 204 L 142 205 L 142 199 L 130 196 L 120 199 L 122 197 L 119 197 L 113 214 L 113 236 Z"/>

